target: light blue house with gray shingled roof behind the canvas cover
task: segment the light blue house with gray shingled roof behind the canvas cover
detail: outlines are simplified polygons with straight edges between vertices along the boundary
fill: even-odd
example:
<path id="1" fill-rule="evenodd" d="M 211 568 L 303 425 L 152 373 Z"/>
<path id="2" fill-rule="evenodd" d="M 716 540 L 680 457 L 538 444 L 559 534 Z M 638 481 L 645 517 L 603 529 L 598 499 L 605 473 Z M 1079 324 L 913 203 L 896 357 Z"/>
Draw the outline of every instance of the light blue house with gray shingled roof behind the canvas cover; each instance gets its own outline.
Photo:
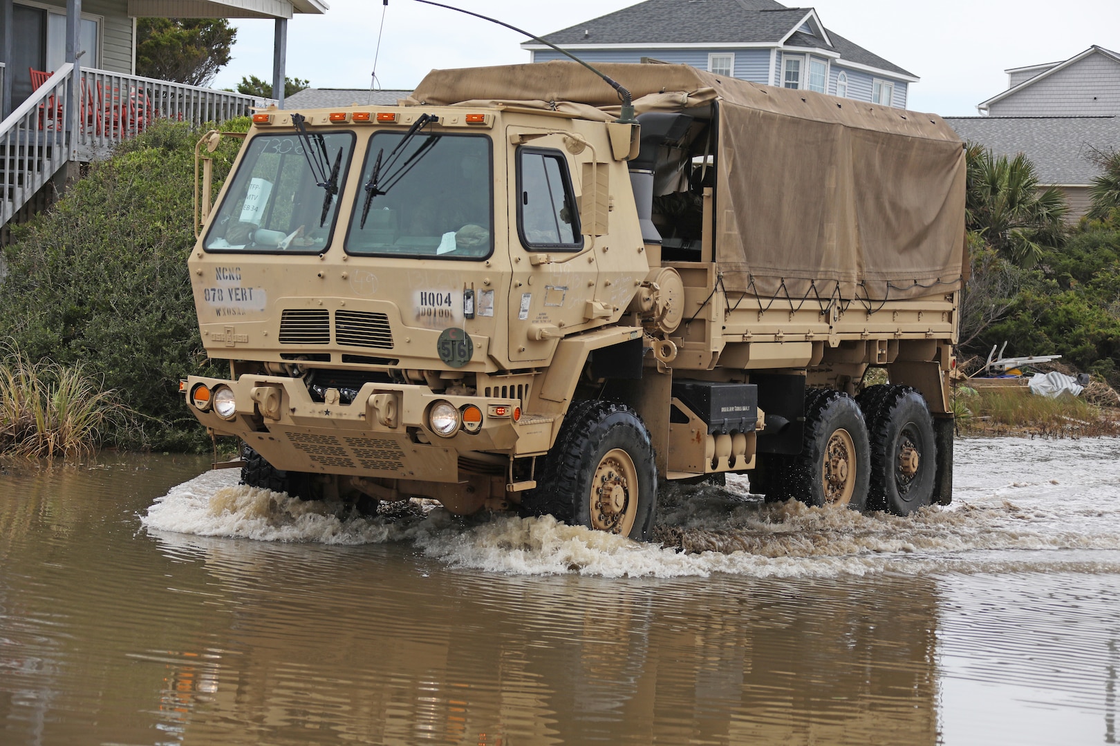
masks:
<path id="1" fill-rule="evenodd" d="M 906 106 L 918 78 L 774 0 L 646 0 L 543 37 L 589 63 L 664 62 L 754 83 Z M 536 41 L 532 62 L 563 59 Z"/>

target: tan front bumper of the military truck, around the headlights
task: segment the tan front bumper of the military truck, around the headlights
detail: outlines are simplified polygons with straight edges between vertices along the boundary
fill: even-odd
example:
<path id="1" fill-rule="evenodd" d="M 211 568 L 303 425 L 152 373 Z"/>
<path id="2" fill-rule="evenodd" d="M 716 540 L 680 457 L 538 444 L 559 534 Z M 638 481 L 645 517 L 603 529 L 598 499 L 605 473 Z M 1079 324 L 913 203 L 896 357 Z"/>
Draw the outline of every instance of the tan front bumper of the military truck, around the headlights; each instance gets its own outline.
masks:
<path id="1" fill-rule="evenodd" d="M 212 391 L 218 386 L 232 389 L 234 415 L 225 419 L 213 407 L 195 407 L 192 391 L 199 384 Z M 479 453 L 539 455 L 552 440 L 551 418 L 522 415 L 514 422 L 514 408 L 523 406 L 520 400 L 444 396 L 418 385 L 367 383 L 347 405 L 314 400 L 295 378 L 192 376 L 185 394 L 203 425 L 218 435 L 241 437 L 286 471 L 450 483 L 459 481 L 460 459 L 475 454 L 478 460 Z M 457 408 L 477 405 L 483 412 L 480 431 L 470 434 L 460 428 L 451 437 L 440 437 L 427 422 L 428 409 L 437 402 Z M 511 416 L 491 416 L 491 406 L 506 406 Z"/>

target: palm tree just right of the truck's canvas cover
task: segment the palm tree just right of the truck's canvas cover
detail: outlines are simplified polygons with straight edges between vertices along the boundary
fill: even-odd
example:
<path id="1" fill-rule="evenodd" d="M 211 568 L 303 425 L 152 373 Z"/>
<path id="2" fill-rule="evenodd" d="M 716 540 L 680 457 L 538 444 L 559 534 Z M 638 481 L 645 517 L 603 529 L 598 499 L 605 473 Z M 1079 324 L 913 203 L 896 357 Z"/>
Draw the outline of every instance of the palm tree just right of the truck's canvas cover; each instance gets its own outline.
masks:
<path id="1" fill-rule="evenodd" d="M 1035 166 L 1019 153 L 1008 160 L 970 143 L 968 160 L 969 230 L 1021 267 L 1032 267 L 1047 248 L 1065 239 L 1068 206 L 1057 187 L 1042 188 Z"/>

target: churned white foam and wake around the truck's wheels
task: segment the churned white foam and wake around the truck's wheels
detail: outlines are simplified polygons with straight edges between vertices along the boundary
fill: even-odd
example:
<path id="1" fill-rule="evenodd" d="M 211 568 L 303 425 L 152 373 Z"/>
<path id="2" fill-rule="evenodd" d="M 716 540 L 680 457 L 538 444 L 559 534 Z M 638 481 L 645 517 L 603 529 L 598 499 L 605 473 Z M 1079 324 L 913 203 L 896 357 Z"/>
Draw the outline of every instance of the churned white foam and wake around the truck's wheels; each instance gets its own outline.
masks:
<path id="1" fill-rule="evenodd" d="M 748 495 L 746 478 L 731 476 L 726 490 L 668 490 L 661 499 L 657 541 L 645 545 L 551 518 L 461 521 L 441 509 L 426 518 L 366 518 L 343 503 L 300 501 L 239 485 L 236 472 L 228 471 L 208 472 L 174 488 L 141 520 L 152 530 L 258 541 L 403 541 L 451 566 L 603 577 L 984 569 L 989 558 L 992 564 L 1008 561 L 1007 551 L 1053 557 L 1053 550 L 1120 550 L 1120 468 L 1114 459 L 1099 459 L 1099 447 L 1066 447 L 1045 462 L 1039 470 L 1044 474 L 1025 471 L 1029 464 L 1020 462 L 1017 480 L 995 483 L 993 472 L 1000 469 L 984 469 L 984 462 L 995 457 L 1006 465 L 1000 451 L 990 441 L 973 447 L 964 443 L 958 445 L 958 490 L 949 508 L 898 517 L 796 502 L 765 504 Z M 1110 448 L 1114 443 L 1107 442 Z M 1010 445 L 1014 452 L 1023 444 L 1012 440 Z M 1114 566 L 1120 556 L 1079 561 Z"/>

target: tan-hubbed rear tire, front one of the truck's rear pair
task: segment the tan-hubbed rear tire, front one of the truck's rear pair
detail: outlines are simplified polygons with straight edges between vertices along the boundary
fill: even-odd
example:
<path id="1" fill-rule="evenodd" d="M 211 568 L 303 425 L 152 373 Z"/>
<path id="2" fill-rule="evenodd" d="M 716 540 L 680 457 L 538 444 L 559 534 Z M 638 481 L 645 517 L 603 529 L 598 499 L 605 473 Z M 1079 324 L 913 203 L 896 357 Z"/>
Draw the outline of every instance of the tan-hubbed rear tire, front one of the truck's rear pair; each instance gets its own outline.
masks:
<path id="1" fill-rule="evenodd" d="M 867 425 L 859 405 L 833 389 L 805 393 L 805 435 L 801 454 L 788 461 L 788 497 L 823 507 L 865 510 L 870 479 Z"/>

